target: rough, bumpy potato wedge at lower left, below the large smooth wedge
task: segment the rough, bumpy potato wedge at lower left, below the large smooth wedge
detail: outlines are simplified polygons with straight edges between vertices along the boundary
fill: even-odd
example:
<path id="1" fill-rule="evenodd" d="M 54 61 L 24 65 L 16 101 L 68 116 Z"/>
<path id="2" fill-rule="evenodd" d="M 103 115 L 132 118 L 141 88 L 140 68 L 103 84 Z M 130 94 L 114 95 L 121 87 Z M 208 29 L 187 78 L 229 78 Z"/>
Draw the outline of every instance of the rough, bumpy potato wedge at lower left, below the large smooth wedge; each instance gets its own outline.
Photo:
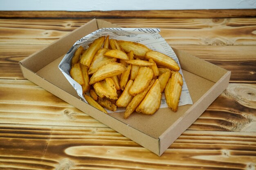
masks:
<path id="1" fill-rule="evenodd" d="M 111 78 L 106 78 L 105 80 L 95 83 L 93 88 L 95 93 L 101 98 L 108 97 L 109 99 L 117 99 L 117 90 Z"/>

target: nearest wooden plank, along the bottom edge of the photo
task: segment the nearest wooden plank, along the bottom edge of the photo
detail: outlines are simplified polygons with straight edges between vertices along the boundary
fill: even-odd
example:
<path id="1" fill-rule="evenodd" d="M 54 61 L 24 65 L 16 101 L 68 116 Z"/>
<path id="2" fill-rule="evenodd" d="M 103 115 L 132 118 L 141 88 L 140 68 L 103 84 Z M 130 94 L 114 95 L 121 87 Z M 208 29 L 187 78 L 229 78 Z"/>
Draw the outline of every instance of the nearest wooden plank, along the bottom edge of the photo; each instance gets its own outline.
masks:
<path id="1" fill-rule="evenodd" d="M 254 132 L 186 130 L 161 157 L 108 127 L 0 124 L 0 137 L 2 170 L 253 170 L 256 163 Z"/>

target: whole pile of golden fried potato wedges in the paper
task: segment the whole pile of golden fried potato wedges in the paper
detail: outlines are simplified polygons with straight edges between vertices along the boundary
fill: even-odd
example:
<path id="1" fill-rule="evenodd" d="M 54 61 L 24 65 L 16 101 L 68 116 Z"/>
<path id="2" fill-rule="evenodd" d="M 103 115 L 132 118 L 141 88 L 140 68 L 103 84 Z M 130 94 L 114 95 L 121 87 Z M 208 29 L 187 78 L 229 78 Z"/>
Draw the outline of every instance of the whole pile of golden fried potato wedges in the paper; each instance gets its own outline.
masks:
<path id="1" fill-rule="evenodd" d="M 153 115 L 163 92 L 168 107 L 177 111 L 183 85 L 180 67 L 143 44 L 102 36 L 86 50 L 79 46 L 71 64 L 70 75 L 81 84 L 86 101 L 104 113 L 104 108 L 123 107 L 125 119 L 135 110 Z"/>

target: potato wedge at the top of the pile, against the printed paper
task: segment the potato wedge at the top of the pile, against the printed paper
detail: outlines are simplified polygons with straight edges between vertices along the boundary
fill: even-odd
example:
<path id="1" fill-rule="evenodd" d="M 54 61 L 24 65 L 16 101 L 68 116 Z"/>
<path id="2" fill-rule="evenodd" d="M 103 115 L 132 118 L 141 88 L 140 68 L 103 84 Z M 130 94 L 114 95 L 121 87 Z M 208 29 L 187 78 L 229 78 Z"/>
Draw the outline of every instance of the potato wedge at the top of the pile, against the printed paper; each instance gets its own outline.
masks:
<path id="1" fill-rule="evenodd" d="M 119 40 L 117 42 L 126 53 L 129 53 L 132 50 L 134 55 L 141 59 L 145 58 L 144 56 L 146 52 L 151 51 L 150 49 L 148 49 L 148 47 L 136 42 L 123 41 L 123 40 Z"/>

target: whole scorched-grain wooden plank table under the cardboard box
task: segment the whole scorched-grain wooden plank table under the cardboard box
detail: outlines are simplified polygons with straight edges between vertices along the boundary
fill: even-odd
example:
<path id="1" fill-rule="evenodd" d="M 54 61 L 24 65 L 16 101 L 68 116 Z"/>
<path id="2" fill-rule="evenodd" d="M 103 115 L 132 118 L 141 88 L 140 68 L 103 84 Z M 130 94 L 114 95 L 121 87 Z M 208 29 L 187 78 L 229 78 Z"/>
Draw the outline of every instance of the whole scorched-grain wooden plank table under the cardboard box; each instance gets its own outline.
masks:
<path id="1" fill-rule="evenodd" d="M 161 157 L 22 76 L 18 61 L 94 16 L 161 28 L 171 46 L 231 71 L 228 88 Z M 0 169 L 255 170 L 255 17 L 256 10 L 1 11 Z"/>

